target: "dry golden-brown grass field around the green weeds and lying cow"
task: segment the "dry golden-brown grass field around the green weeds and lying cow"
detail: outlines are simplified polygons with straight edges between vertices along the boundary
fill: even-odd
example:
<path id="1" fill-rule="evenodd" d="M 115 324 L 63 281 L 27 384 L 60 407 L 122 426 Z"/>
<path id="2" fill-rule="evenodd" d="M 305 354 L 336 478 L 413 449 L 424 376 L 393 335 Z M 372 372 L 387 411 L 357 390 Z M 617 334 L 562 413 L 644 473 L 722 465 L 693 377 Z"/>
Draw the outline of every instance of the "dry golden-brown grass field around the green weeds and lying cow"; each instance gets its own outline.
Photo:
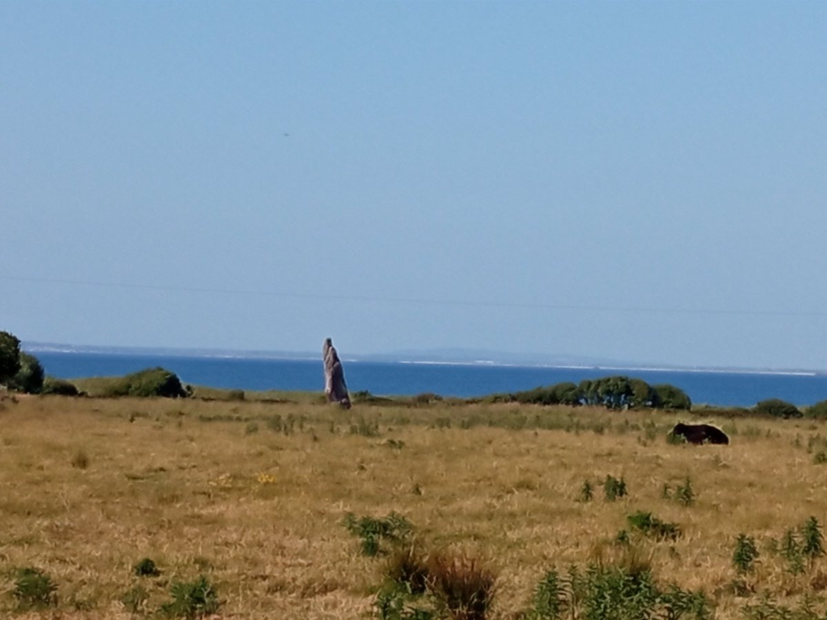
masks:
<path id="1" fill-rule="evenodd" d="M 686 446 L 666 441 L 677 419 L 493 404 L 342 411 L 194 398 L 7 398 L 0 617 L 153 617 L 172 584 L 202 575 L 218 593 L 217 618 L 375 617 L 385 560 L 361 555 L 343 525 L 347 513 L 399 513 L 423 549 L 476 558 L 497 577 L 490 618 L 522 618 L 549 569 L 630 554 L 651 565 L 659 583 L 702 589 L 715 618 L 758 618 L 748 606 L 760 604 L 770 610 L 762 618 L 782 613 L 779 605 L 824 613 L 827 558 L 796 574 L 777 546 L 808 517 L 827 521 L 827 464 L 817 457 L 827 429 L 808 420 L 705 418 L 731 445 Z M 628 494 L 605 498 L 607 475 L 622 478 Z M 664 496 L 664 485 L 674 491 L 686 479 L 691 502 Z M 580 497 L 586 481 L 590 501 Z M 678 524 L 681 536 L 630 532 L 619 544 L 638 510 Z M 743 576 L 733 565 L 741 533 L 760 553 Z M 136 575 L 147 557 L 159 576 Z M 20 604 L 24 567 L 49 575 L 56 604 Z"/>

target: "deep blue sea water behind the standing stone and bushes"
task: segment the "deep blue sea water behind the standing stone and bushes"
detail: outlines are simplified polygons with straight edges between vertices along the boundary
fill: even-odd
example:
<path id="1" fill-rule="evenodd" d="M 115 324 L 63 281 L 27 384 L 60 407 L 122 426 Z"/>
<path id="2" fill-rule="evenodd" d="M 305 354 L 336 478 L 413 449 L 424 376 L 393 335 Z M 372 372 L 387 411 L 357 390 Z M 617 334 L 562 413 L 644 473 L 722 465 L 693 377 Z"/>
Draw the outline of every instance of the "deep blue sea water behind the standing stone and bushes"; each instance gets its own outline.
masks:
<path id="1" fill-rule="evenodd" d="M 318 390 L 324 386 L 319 360 L 174 355 L 116 355 L 74 351 L 36 351 L 46 374 L 64 379 L 115 376 L 162 366 L 185 384 L 248 390 Z M 693 370 L 637 370 L 500 366 L 484 364 L 420 364 L 344 360 L 351 392 L 413 395 L 424 392 L 469 398 L 516 392 L 562 381 L 580 383 L 625 374 L 649 384 L 672 384 L 693 403 L 752 407 L 766 398 L 782 398 L 799 406 L 827 399 L 827 374 L 781 374 Z"/>

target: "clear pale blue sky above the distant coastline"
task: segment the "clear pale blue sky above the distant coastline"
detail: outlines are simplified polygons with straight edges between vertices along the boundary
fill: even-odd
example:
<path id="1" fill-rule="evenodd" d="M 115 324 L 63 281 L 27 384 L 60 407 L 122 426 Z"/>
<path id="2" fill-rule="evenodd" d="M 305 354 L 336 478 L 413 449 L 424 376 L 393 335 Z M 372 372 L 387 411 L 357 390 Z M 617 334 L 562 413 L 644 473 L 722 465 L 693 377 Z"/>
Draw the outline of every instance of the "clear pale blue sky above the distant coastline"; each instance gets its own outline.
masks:
<path id="1" fill-rule="evenodd" d="M 827 2 L 0 2 L 0 329 L 827 367 Z"/>

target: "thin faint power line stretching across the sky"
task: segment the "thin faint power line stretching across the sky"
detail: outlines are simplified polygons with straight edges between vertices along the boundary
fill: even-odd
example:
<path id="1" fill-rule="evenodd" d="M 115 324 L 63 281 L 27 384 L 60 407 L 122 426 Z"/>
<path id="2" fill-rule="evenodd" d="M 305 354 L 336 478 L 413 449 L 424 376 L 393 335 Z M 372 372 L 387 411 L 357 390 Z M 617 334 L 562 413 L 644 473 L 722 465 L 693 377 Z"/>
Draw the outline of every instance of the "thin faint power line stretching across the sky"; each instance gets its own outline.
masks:
<path id="1" fill-rule="evenodd" d="M 103 289 L 155 290 L 171 293 L 199 293 L 213 295 L 246 295 L 256 297 L 275 297 L 292 299 L 326 299 L 347 302 L 406 303 L 429 306 L 456 306 L 470 308 L 521 308 L 536 310 L 572 310 L 578 312 L 624 312 L 632 314 L 686 314 L 686 315 L 729 315 L 756 317 L 827 317 L 827 311 L 808 310 L 756 310 L 745 308 L 656 308 L 647 306 L 612 306 L 576 303 L 526 303 L 502 302 L 493 300 L 435 299 L 435 298 L 401 298 L 368 295 L 342 295 L 328 293 L 294 293 L 284 291 L 262 291 L 251 289 L 220 289 L 214 287 L 191 287 L 170 284 L 136 284 L 127 282 L 104 282 L 64 278 L 34 278 L 26 276 L 0 275 L 0 279 L 31 284 L 68 284 L 71 286 L 89 286 Z"/>

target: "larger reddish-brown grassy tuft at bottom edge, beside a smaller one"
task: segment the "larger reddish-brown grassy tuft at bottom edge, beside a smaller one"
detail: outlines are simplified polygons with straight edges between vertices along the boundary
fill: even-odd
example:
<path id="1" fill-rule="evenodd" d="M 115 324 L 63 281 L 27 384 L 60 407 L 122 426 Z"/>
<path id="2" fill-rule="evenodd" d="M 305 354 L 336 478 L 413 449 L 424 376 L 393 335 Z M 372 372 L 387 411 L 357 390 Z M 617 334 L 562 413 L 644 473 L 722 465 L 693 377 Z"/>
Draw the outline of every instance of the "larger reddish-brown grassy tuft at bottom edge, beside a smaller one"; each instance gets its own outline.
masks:
<path id="1" fill-rule="evenodd" d="M 495 596 L 496 576 L 474 558 L 433 556 L 428 588 L 454 620 L 485 620 Z"/>

